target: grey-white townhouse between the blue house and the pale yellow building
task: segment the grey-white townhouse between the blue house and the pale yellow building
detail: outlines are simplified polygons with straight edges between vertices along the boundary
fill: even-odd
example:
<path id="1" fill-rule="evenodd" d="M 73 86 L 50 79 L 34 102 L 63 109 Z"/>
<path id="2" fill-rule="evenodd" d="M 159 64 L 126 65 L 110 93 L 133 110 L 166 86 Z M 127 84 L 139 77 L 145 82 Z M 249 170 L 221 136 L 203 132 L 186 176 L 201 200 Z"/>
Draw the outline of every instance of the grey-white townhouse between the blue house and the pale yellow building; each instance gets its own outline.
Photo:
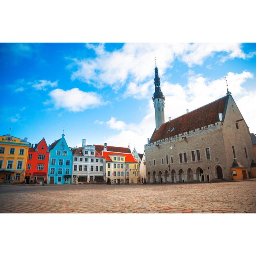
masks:
<path id="1" fill-rule="evenodd" d="M 73 148 L 72 152 L 72 184 L 104 182 L 105 158 L 95 150 L 95 146 L 86 145 L 83 139 L 82 147 Z"/>

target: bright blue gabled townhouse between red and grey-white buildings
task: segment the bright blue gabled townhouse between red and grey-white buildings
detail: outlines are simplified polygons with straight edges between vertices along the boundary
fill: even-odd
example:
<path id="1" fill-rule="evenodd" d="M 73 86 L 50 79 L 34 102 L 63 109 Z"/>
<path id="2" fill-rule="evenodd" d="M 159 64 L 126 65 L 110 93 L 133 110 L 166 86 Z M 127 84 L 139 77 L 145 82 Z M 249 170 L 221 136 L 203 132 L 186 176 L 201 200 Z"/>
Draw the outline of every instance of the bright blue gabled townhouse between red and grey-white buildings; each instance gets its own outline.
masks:
<path id="1" fill-rule="evenodd" d="M 73 155 L 64 136 L 49 146 L 48 184 L 71 183 Z"/>

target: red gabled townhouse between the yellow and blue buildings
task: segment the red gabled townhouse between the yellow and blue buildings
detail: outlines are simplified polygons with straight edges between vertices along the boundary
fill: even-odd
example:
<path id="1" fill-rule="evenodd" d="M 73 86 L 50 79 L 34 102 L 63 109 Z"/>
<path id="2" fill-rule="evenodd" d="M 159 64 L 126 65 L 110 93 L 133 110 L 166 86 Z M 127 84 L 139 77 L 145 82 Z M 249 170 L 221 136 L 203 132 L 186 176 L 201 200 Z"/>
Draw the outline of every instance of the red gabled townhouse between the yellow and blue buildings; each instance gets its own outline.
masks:
<path id="1" fill-rule="evenodd" d="M 49 150 L 44 138 L 28 149 L 28 160 L 25 171 L 27 183 L 47 182 Z"/>

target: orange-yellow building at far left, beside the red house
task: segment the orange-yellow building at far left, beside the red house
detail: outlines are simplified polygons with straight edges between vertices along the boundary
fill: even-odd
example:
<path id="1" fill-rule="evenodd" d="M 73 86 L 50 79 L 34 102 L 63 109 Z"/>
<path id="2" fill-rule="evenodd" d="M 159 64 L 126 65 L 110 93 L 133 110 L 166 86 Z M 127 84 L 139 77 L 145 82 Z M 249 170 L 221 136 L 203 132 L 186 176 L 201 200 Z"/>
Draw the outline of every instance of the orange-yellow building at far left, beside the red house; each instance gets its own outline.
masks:
<path id="1" fill-rule="evenodd" d="M 0 136 L 0 183 L 22 183 L 27 163 L 28 138 Z"/>

